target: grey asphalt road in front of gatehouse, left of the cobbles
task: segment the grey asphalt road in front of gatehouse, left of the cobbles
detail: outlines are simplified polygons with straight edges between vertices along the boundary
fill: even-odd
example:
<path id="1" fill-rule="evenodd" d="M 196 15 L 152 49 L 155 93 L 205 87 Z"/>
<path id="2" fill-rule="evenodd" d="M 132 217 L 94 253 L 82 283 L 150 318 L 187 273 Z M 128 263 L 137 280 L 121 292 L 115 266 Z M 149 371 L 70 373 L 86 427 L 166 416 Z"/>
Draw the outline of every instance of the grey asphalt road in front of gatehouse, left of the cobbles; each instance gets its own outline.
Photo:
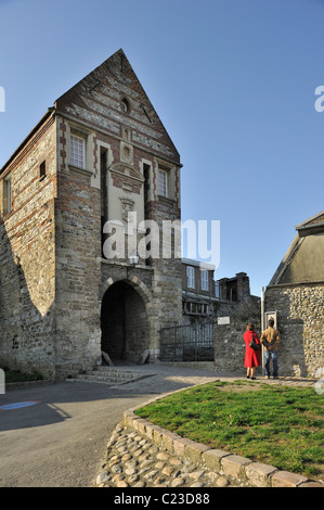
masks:
<path id="1" fill-rule="evenodd" d="M 0 408 L 0 487 L 91 487 L 125 409 L 152 398 L 101 384 L 62 382 L 8 391 Z"/>

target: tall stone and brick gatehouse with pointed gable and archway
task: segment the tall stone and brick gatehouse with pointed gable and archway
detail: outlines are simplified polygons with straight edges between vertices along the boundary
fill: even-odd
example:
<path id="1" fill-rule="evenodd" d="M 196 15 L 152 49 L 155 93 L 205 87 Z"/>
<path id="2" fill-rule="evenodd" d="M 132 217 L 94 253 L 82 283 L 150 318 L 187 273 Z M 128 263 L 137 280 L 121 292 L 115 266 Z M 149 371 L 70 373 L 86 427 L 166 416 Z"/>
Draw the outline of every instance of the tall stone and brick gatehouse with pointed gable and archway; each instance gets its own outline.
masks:
<path id="1" fill-rule="evenodd" d="M 102 350 L 158 357 L 182 321 L 181 257 L 137 243 L 143 220 L 180 220 L 181 166 L 122 50 L 48 109 L 0 170 L 0 366 L 60 380 Z M 128 251 L 105 256 L 120 227 Z"/>

